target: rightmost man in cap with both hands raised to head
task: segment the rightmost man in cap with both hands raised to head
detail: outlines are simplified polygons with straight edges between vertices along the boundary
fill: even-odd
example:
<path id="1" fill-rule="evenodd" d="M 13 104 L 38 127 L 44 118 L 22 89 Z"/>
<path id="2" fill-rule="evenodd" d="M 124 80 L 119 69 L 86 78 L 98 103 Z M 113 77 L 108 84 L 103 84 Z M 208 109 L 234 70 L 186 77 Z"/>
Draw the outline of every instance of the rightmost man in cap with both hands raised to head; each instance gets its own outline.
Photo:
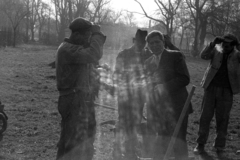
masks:
<path id="1" fill-rule="evenodd" d="M 201 58 L 210 60 L 203 76 L 201 86 L 204 88 L 202 111 L 200 117 L 196 154 L 204 153 L 204 146 L 209 135 L 211 120 L 216 117 L 216 139 L 213 147 L 217 152 L 226 146 L 229 115 L 233 104 L 233 95 L 240 92 L 240 52 L 237 37 L 225 34 L 216 37 L 201 52 Z"/>

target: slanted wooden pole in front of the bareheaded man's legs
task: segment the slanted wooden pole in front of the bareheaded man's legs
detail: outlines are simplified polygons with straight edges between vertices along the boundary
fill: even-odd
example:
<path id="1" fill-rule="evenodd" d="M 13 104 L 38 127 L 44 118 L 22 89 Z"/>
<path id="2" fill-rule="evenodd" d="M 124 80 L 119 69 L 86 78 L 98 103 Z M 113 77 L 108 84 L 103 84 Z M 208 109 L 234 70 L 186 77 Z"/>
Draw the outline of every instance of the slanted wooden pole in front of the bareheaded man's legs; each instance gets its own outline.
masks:
<path id="1" fill-rule="evenodd" d="M 187 100 L 186 100 L 186 102 L 184 104 L 182 113 L 181 113 L 181 115 L 180 115 L 180 117 L 178 119 L 177 125 L 176 125 L 176 127 L 174 129 L 173 135 L 171 137 L 171 140 L 170 140 L 168 148 L 167 148 L 167 152 L 166 152 L 163 160 L 168 160 L 169 159 L 170 153 L 171 153 L 173 145 L 174 145 L 174 143 L 176 141 L 176 137 L 177 137 L 178 132 L 180 130 L 180 127 L 182 125 L 183 119 L 184 119 L 184 117 L 185 117 L 185 115 L 186 115 L 186 113 L 188 111 L 188 107 L 189 107 L 189 104 L 190 104 L 190 101 L 191 101 L 191 98 L 193 96 L 195 88 L 196 88 L 196 86 L 192 86 L 191 92 L 188 95 L 188 98 L 187 98 Z"/>

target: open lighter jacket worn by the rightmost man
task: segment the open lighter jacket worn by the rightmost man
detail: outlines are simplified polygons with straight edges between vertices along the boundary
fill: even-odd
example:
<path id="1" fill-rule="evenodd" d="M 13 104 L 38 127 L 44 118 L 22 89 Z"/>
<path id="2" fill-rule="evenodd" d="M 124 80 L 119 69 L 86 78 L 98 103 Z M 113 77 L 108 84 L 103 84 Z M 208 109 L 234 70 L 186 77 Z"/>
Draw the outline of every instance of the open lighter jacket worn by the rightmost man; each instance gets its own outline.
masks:
<path id="1" fill-rule="evenodd" d="M 217 51 L 215 47 L 208 45 L 201 52 L 201 58 L 205 60 L 211 60 L 201 81 L 201 86 L 206 89 L 222 64 L 223 54 Z M 227 60 L 228 78 L 233 94 L 240 92 L 239 63 L 240 52 L 234 48 L 234 50 L 229 54 Z"/>

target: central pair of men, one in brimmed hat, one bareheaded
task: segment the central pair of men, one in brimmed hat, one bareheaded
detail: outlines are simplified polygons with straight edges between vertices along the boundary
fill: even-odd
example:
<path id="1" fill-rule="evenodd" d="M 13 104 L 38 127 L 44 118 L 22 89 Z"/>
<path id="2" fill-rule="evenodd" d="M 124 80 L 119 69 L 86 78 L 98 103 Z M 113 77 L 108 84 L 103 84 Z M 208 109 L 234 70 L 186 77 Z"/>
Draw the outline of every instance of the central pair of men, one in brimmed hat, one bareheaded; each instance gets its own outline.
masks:
<path id="1" fill-rule="evenodd" d="M 148 48 L 145 48 L 146 44 Z M 137 159 L 136 132 L 145 104 L 148 112 L 146 135 L 143 137 L 145 152 L 154 159 L 163 159 L 188 96 L 186 86 L 190 76 L 184 56 L 161 32 L 147 34 L 147 31 L 137 30 L 133 46 L 118 54 L 115 74 L 117 86 L 121 86 L 118 111 L 119 127 L 126 133 L 124 158 Z M 126 87 L 121 84 L 126 84 Z M 188 113 L 191 112 L 190 107 Z M 175 145 L 179 159 L 188 157 L 187 121 L 188 114 Z"/>

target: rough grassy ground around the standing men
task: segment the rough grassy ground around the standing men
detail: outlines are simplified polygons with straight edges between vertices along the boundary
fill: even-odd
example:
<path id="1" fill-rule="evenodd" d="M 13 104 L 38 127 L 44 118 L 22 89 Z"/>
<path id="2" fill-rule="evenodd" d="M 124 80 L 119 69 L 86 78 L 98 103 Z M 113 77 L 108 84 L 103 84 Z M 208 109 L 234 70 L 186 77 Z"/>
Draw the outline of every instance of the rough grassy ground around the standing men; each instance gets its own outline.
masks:
<path id="1" fill-rule="evenodd" d="M 8 128 L 0 141 L 2 160 L 53 160 L 60 135 L 60 115 L 57 111 L 58 92 L 54 80 L 55 69 L 48 64 L 54 61 L 57 47 L 24 45 L 17 48 L 0 48 L 0 100 L 8 115 Z M 117 51 L 105 50 L 102 63 L 114 64 Z M 196 145 L 203 89 L 199 83 L 207 67 L 207 61 L 187 57 L 191 84 L 196 85 L 188 127 L 189 153 Z M 98 103 L 116 107 L 116 97 L 101 92 Z M 240 96 L 235 95 L 231 112 L 226 153 L 217 155 L 212 150 L 215 136 L 215 121 L 206 150 L 213 160 L 240 160 Z M 99 123 L 116 119 L 114 110 L 96 107 L 98 129 L 95 141 L 94 160 L 110 160 L 113 142 L 112 125 Z M 200 157 L 196 157 L 200 159 Z"/>

